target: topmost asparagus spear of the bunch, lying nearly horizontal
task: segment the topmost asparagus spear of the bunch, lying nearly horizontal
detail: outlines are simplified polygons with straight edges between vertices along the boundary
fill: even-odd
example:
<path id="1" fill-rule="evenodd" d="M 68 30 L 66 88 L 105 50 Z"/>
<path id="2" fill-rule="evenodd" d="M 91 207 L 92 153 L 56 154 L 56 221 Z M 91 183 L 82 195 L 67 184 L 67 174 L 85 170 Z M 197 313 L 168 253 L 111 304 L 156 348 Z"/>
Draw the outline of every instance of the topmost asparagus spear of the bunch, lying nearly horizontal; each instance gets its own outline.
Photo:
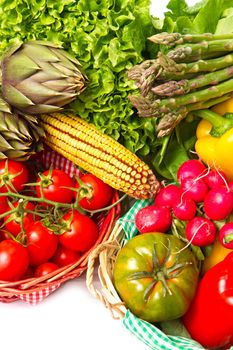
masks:
<path id="1" fill-rule="evenodd" d="M 180 33 L 159 33 L 148 38 L 150 41 L 167 46 L 175 46 L 184 43 L 199 43 L 201 41 L 233 39 L 233 34 L 180 34 Z"/>

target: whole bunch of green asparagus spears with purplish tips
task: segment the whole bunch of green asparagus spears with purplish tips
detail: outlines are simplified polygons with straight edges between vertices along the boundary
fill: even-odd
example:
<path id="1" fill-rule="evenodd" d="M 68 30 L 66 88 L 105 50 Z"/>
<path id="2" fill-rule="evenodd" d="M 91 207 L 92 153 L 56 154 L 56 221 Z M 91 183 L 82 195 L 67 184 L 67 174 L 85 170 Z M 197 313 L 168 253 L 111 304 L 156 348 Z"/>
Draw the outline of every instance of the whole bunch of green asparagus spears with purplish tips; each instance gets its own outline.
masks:
<path id="1" fill-rule="evenodd" d="M 233 93 L 233 34 L 160 33 L 166 45 L 152 60 L 128 71 L 139 95 L 129 96 L 138 114 L 158 119 L 158 136 L 169 134 L 190 112 L 209 108 Z"/>

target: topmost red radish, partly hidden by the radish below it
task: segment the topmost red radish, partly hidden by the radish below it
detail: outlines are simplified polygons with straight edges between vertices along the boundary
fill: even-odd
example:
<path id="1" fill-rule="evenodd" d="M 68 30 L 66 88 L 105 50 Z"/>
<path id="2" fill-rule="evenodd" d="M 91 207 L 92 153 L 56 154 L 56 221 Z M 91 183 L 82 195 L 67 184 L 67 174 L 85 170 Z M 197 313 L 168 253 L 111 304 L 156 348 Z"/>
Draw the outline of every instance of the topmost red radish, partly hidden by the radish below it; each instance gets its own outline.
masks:
<path id="1" fill-rule="evenodd" d="M 207 172 L 205 165 L 197 159 L 190 159 L 182 163 L 177 171 L 177 179 L 179 183 L 182 183 L 187 177 L 197 178 L 204 175 Z"/>

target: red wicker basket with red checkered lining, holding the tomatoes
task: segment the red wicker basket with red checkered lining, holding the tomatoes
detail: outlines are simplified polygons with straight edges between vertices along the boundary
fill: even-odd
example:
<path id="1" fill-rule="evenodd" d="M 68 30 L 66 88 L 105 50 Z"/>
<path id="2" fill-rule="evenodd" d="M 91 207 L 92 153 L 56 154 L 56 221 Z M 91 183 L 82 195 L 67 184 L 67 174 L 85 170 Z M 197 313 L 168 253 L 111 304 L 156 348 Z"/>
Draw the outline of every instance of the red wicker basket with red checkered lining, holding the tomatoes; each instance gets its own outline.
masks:
<path id="1" fill-rule="evenodd" d="M 54 166 L 63 169 L 71 175 L 77 175 L 79 173 L 79 170 L 72 164 L 72 162 L 48 149 L 40 155 L 39 161 L 46 167 Z M 115 191 L 112 203 L 117 202 L 118 199 L 118 193 Z M 0 301 L 12 302 L 21 299 L 31 304 L 36 304 L 54 292 L 64 282 L 78 278 L 87 269 L 88 257 L 91 251 L 100 243 L 109 239 L 114 223 L 119 217 L 120 209 L 120 204 L 116 203 L 116 205 L 106 214 L 100 214 L 98 216 L 96 219 L 99 227 L 98 240 L 95 245 L 88 252 L 83 254 L 75 263 L 61 267 L 46 276 L 38 278 L 27 278 L 16 282 L 0 281 Z"/>

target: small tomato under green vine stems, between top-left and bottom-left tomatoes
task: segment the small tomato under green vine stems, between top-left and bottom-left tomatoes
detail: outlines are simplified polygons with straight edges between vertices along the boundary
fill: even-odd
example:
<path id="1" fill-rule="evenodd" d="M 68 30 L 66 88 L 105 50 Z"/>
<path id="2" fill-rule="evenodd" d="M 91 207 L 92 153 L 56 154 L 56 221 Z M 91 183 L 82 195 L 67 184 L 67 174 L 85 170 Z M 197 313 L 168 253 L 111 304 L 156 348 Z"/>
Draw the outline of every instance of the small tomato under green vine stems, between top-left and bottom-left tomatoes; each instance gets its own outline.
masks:
<path id="1" fill-rule="evenodd" d="M 19 203 L 19 201 L 12 203 L 12 205 L 19 210 L 15 213 L 4 216 L 3 221 L 4 228 L 16 237 L 20 232 L 22 232 L 22 228 L 26 229 L 27 226 L 30 225 L 32 222 L 36 221 L 37 218 L 32 213 L 27 213 L 25 211 L 33 211 L 35 209 L 34 204 L 30 202 L 24 203 L 22 208 L 23 213 L 21 213 L 21 204 Z M 11 210 L 11 207 L 8 207 L 7 210 Z"/>

